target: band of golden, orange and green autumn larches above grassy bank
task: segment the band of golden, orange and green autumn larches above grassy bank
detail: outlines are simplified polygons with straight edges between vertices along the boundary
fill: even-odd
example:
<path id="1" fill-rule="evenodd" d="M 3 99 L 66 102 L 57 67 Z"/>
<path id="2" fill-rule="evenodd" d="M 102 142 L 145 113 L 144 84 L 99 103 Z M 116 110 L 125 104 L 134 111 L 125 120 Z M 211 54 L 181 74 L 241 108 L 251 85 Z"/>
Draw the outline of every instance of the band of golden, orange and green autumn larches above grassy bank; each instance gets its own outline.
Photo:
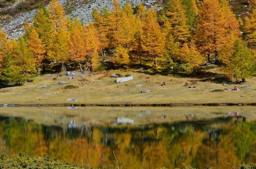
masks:
<path id="1" fill-rule="evenodd" d="M 168 73 L 197 72 L 202 63 L 215 62 L 228 76 L 245 81 L 256 60 L 255 0 L 250 7 L 242 24 L 227 0 L 169 0 L 159 13 L 142 4 L 133 9 L 129 2 L 121 8 L 113 0 L 110 11 L 94 9 L 93 21 L 84 25 L 77 17 L 67 18 L 52 0 L 17 40 L 0 31 L 0 79 L 5 85 L 22 84 L 54 65 L 61 72 L 70 64 L 93 71 L 108 58 L 117 67 L 140 65 Z"/>

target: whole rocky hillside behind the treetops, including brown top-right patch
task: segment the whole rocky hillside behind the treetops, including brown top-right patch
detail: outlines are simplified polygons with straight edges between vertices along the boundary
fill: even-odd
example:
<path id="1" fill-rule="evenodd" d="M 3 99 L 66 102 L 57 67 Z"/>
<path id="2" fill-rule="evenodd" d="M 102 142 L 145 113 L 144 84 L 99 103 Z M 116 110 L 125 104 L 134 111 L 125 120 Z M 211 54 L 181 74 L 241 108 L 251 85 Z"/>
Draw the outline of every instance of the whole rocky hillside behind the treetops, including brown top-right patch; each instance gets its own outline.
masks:
<path id="1" fill-rule="evenodd" d="M 50 0 L 0 0 L 0 28 L 7 33 L 8 38 L 17 38 L 24 31 L 25 21 L 32 22 L 37 9 L 47 5 Z M 78 16 L 84 23 L 92 20 L 94 8 L 112 8 L 112 0 L 59 0 L 65 7 L 66 15 L 69 17 Z M 157 11 L 164 7 L 167 0 L 119 0 L 123 6 L 130 2 L 133 7 L 143 3 L 147 8 L 155 8 Z M 230 0 L 230 8 L 238 17 L 244 17 L 249 13 L 248 0 Z"/>

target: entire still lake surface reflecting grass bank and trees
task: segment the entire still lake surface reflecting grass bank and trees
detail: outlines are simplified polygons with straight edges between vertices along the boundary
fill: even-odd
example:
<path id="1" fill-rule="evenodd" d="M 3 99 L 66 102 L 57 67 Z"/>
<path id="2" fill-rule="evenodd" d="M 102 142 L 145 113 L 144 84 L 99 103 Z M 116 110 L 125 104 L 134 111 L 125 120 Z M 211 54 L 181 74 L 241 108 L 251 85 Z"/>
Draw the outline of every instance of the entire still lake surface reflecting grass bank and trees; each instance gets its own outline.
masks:
<path id="1" fill-rule="evenodd" d="M 256 107 L 0 107 L 0 152 L 90 167 L 230 168 L 256 162 Z"/>

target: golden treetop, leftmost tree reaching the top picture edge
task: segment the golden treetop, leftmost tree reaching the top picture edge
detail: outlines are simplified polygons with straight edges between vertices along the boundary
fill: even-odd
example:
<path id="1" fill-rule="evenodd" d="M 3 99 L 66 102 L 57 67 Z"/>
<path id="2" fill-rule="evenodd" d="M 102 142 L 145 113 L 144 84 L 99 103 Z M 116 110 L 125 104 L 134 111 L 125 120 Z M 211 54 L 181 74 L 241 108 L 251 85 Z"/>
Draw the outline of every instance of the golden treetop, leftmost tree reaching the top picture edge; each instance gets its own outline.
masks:
<path id="1" fill-rule="evenodd" d="M 54 31 L 59 32 L 67 29 L 66 15 L 59 1 L 52 0 L 48 5 L 47 13 Z"/>

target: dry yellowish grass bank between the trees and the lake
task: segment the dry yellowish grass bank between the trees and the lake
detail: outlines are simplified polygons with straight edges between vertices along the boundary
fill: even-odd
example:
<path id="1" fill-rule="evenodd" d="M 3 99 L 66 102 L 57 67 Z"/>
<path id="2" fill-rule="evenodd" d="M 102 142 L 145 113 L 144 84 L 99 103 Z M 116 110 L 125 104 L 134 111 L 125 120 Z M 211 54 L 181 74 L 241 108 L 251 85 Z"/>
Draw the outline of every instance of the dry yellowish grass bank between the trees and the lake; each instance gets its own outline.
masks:
<path id="1" fill-rule="evenodd" d="M 133 75 L 134 80 L 115 83 L 111 74 Z M 148 75 L 137 70 L 111 70 L 98 72 L 97 75 L 81 77 L 78 73 L 75 79 L 69 80 L 62 76 L 53 80 L 55 75 L 40 76 L 32 83 L 5 89 L 0 92 L 0 104 L 201 104 L 201 103 L 253 103 L 256 94 L 256 78 L 247 79 L 245 84 L 237 85 L 240 90 L 210 92 L 216 89 L 233 88 L 234 85 L 223 86 L 214 82 L 200 82 L 197 78 L 175 78 L 172 76 Z M 88 81 L 81 82 L 86 78 Z M 79 81 L 80 80 L 80 81 Z M 65 81 L 65 85 L 53 85 Z M 165 82 L 165 86 L 159 86 Z M 189 89 L 185 82 L 196 82 L 197 88 Z M 142 87 L 135 87 L 142 84 Z M 47 85 L 46 88 L 42 86 Z M 66 85 L 79 88 L 63 89 Z M 242 88 L 243 86 L 252 86 Z M 150 93 L 139 93 L 141 90 L 151 90 Z M 67 101 L 77 98 L 78 101 Z"/>

